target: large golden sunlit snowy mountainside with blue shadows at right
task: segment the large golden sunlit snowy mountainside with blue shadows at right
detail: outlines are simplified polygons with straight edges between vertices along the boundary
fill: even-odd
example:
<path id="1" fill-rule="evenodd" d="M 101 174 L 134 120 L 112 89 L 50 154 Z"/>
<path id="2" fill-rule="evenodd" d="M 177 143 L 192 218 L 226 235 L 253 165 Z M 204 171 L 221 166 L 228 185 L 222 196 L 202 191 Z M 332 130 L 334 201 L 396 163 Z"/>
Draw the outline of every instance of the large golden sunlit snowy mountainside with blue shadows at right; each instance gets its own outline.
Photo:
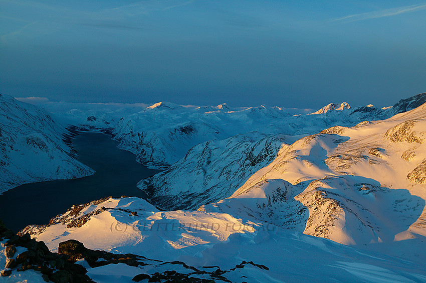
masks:
<path id="1" fill-rule="evenodd" d="M 229 198 L 203 205 L 344 244 L 426 236 L 426 103 L 282 148 Z"/>

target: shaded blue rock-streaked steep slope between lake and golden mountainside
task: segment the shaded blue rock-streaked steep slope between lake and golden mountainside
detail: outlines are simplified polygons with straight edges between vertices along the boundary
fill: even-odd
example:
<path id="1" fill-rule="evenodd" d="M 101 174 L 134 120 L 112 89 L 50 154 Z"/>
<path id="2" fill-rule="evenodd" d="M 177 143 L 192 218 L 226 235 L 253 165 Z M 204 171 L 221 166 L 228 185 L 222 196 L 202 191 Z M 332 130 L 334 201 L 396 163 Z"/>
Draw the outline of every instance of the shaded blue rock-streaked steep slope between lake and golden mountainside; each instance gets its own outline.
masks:
<path id="1" fill-rule="evenodd" d="M 200 143 L 169 169 L 140 181 L 148 200 L 167 210 L 196 209 L 234 193 L 286 147 L 284 136 L 259 132 Z"/>

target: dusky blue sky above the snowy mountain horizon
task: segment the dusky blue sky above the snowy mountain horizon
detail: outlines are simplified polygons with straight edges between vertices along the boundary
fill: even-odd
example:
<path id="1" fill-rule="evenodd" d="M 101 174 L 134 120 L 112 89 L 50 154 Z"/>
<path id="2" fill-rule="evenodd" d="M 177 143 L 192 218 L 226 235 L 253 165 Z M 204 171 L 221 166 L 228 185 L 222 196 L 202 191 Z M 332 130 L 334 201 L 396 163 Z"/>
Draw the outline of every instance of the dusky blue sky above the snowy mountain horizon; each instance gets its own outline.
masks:
<path id="1" fill-rule="evenodd" d="M 426 91 L 426 2 L 0 0 L 0 92 L 383 107 Z"/>

